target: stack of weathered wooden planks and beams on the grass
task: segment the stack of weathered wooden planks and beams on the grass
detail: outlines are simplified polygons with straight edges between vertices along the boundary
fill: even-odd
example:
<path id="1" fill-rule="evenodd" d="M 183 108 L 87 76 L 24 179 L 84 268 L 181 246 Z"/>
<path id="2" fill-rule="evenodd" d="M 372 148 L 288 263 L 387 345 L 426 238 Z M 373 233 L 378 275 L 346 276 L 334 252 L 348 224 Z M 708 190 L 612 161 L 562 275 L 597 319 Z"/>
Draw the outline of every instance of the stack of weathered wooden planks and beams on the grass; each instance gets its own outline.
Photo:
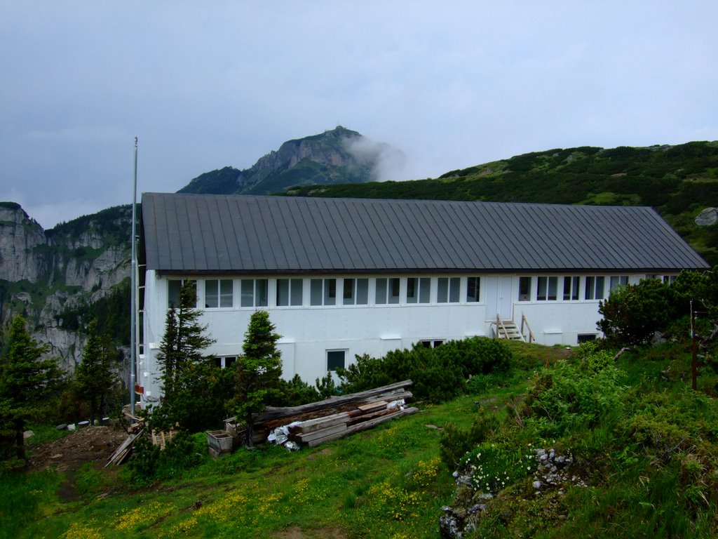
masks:
<path id="1" fill-rule="evenodd" d="M 309 405 L 267 408 L 257 415 L 256 425 L 258 430 L 263 431 L 285 426 L 290 441 L 300 446 L 319 446 L 418 412 L 417 408 L 404 405 L 412 397 L 411 392 L 406 390 L 411 383 L 411 380 L 405 380 Z"/>

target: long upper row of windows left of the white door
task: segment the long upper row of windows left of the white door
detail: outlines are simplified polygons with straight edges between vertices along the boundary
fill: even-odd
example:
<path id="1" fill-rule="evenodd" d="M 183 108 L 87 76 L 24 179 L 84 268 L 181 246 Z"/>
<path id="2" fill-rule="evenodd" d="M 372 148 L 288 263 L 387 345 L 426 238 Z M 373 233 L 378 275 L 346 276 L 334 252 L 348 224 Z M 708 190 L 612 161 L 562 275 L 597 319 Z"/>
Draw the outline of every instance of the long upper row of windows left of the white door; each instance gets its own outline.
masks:
<path id="1" fill-rule="evenodd" d="M 462 281 L 465 281 L 466 303 L 480 300 L 480 277 L 377 277 L 328 279 L 240 279 L 238 294 L 240 307 L 267 307 L 269 287 L 275 287 L 277 307 L 304 305 L 304 288 L 308 284 L 309 305 L 391 305 L 399 303 L 432 303 L 436 288 L 436 303 L 460 303 Z M 172 279 L 167 284 L 167 305 L 180 303 L 183 280 Z M 232 279 L 205 279 L 204 305 L 207 309 L 235 307 L 236 285 Z M 197 286 L 195 282 L 195 287 Z M 195 291 L 196 288 L 195 288 Z"/>

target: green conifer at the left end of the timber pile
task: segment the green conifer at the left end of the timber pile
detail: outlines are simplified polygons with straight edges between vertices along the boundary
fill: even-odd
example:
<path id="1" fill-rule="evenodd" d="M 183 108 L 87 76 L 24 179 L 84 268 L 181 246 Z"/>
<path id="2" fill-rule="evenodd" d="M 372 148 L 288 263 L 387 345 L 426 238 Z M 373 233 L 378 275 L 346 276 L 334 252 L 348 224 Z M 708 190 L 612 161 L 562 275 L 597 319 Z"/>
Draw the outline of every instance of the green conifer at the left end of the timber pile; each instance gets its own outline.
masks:
<path id="1" fill-rule="evenodd" d="M 258 310 L 250 318 L 242 346 L 243 356 L 237 360 L 237 383 L 233 407 L 238 418 L 247 425 L 246 446 L 253 447 L 253 414 L 281 397 L 281 352 L 266 310 Z"/>

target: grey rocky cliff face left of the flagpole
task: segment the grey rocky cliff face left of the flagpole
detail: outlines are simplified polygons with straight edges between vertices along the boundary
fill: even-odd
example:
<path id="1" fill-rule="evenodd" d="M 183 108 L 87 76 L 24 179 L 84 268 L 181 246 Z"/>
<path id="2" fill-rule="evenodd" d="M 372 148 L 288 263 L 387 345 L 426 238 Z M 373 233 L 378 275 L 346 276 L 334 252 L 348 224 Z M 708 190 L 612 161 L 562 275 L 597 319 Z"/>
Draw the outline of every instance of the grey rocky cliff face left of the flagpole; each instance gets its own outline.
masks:
<path id="1" fill-rule="evenodd" d="M 2 326 L 22 314 L 33 338 L 50 345 L 48 355 L 73 370 L 85 336 L 67 329 L 59 315 L 129 277 L 130 221 L 130 208 L 118 207 L 44 231 L 18 204 L 0 203 Z"/>

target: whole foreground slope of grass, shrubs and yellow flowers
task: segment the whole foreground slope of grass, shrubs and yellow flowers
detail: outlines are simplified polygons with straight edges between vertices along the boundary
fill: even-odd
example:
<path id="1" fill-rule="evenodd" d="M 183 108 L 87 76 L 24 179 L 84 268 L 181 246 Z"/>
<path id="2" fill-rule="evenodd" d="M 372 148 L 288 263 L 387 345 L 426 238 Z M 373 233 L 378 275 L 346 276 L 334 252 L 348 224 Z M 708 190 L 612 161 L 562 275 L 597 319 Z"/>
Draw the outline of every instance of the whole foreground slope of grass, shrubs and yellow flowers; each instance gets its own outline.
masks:
<path id="1" fill-rule="evenodd" d="M 465 539 L 714 538 L 715 375 L 690 389 L 687 345 L 612 361 L 510 343 L 510 372 L 477 375 L 469 395 L 298 452 L 213 461 L 197 433 L 195 467 L 157 482 L 129 466 L 0 474 L 0 538 L 439 539 L 446 506 L 466 518 L 480 506 Z"/>

